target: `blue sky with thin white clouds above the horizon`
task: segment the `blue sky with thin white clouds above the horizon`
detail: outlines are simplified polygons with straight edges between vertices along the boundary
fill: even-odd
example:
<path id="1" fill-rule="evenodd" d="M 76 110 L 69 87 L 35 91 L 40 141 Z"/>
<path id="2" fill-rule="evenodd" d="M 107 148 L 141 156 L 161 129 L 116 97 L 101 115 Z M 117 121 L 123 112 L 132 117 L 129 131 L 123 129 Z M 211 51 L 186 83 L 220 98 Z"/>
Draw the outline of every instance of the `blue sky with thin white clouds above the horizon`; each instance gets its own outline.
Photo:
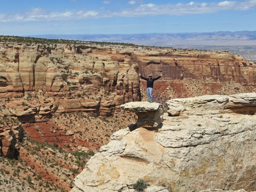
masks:
<path id="1" fill-rule="evenodd" d="M 4 0 L 0 35 L 255 31 L 256 0 Z"/>

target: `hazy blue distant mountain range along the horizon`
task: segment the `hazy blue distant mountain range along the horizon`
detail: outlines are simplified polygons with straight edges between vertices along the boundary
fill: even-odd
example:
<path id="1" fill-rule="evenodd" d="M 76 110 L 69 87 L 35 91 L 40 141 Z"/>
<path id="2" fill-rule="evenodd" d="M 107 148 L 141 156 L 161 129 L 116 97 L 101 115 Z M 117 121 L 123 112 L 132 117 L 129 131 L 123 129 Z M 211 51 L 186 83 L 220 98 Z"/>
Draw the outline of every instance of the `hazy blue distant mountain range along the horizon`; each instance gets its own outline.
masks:
<path id="1" fill-rule="evenodd" d="M 25 37 L 105 41 L 145 46 L 179 47 L 191 45 L 256 45 L 256 31 L 198 32 L 198 33 L 144 33 L 144 34 L 79 34 L 27 35 Z"/>

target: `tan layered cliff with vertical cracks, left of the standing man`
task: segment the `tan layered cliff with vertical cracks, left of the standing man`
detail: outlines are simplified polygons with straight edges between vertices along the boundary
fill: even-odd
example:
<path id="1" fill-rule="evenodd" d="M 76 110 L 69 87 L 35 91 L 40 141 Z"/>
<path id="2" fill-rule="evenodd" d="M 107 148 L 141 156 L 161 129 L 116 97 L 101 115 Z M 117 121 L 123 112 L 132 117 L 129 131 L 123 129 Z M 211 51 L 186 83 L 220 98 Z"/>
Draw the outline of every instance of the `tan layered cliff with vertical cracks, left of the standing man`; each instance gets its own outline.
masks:
<path id="1" fill-rule="evenodd" d="M 113 61 L 108 55 L 99 58 L 93 49 L 101 50 L 70 44 L 0 44 L 0 96 L 33 101 L 13 108 L 22 102 L 12 99 L 10 113 L 30 116 L 30 122 L 35 114 L 54 112 L 109 116 L 125 102 L 139 101 L 137 64 Z M 38 99 L 42 96 L 49 101 Z"/>

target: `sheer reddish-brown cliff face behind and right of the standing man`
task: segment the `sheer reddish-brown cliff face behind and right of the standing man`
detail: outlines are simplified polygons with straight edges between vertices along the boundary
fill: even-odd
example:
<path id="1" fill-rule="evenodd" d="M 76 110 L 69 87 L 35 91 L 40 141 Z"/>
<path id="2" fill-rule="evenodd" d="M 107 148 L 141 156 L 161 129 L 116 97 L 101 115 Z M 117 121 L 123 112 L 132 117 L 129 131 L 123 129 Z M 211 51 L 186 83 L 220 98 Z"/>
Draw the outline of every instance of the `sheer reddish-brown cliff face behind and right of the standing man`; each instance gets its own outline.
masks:
<path id="1" fill-rule="evenodd" d="M 205 83 L 235 81 L 255 84 L 255 65 L 239 55 L 227 51 L 196 49 L 150 49 L 132 52 L 132 61 L 138 63 L 147 76 L 153 73 L 171 79 L 201 79 Z"/>

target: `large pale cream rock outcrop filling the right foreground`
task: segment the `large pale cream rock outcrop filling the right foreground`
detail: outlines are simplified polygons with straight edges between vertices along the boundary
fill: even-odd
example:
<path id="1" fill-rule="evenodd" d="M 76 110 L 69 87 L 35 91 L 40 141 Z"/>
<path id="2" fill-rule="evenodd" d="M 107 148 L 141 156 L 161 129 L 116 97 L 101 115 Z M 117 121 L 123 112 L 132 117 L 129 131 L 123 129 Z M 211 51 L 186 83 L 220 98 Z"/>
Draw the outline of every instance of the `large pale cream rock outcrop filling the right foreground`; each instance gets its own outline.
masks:
<path id="1" fill-rule="evenodd" d="M 130 125 L 114 133 L 71 191 L 132 192 L 140 179 L 170 191 L 255 191 L 255 98 L 244 93 L 169 100 L 172 116 L 164 113 L 155 128 Z M 139 114 L 157 105 L 140 103 L 122 108 Z"/>

